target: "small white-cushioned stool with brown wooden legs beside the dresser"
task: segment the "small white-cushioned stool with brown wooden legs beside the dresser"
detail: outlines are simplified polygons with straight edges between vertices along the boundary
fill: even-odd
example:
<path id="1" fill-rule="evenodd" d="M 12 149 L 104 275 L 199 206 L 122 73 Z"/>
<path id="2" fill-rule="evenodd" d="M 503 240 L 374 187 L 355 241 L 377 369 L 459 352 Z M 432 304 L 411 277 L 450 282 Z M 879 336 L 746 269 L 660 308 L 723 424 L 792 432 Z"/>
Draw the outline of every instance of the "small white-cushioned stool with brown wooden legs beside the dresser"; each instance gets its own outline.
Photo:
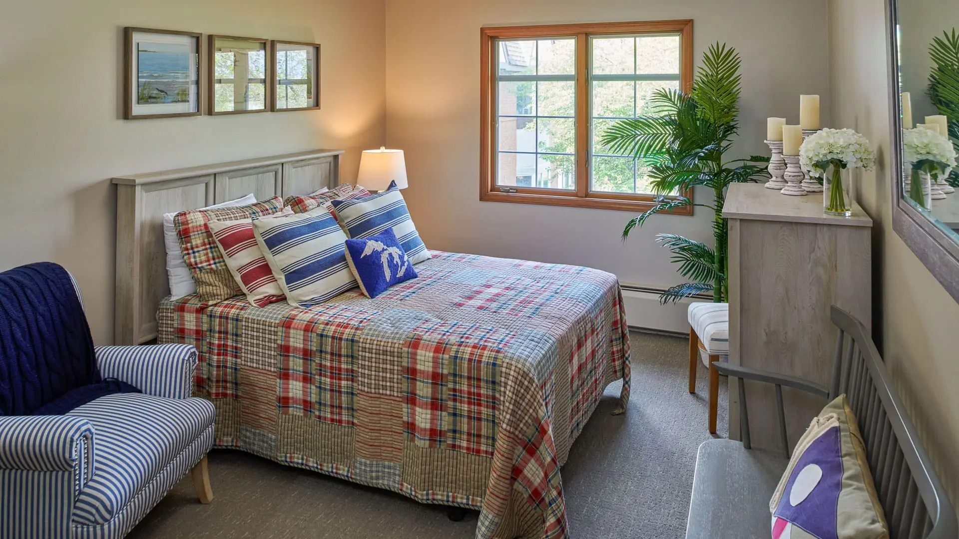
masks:
<path id="1" fill-rule="evenodd" d="M 729 358 L 729 303 L 690 303 L 690 393 L 696 392 L 696 363 L 710 369 L 710 433 L 716 432 L 719 373 L 713 363 Z"/>

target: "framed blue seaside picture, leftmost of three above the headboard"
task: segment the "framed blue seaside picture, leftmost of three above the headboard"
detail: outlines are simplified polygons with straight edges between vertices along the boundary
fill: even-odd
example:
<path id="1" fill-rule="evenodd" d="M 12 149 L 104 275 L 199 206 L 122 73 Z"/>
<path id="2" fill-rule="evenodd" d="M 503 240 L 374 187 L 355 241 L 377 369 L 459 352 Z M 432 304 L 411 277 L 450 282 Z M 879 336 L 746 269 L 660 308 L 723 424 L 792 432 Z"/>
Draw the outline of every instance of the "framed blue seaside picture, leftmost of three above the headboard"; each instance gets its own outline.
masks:
<path id="1" fill-rule="evenodd" d="M 201 113 L 202 35 L 127 28 L 124 46 L 126 119 Z"/>

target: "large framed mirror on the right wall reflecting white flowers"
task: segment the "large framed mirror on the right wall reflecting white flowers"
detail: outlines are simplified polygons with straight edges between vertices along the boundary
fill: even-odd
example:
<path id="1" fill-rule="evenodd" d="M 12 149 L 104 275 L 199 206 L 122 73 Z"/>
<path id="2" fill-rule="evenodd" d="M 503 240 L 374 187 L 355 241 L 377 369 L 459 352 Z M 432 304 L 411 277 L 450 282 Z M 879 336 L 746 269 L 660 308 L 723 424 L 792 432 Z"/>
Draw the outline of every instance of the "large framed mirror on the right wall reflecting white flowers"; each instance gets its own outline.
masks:
<path id="1" fill-rule="evenodd" d="M 959 301 L 959 3 L 887 13 L 893 228 Z"/>

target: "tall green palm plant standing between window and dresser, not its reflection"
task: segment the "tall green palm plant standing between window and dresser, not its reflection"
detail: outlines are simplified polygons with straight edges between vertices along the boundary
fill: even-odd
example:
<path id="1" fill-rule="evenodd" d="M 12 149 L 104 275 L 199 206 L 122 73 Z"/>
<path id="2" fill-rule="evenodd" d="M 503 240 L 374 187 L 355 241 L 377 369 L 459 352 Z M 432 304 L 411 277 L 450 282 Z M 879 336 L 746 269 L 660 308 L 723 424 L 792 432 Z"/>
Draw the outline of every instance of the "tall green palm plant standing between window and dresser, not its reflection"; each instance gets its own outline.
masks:
<path id="1" fill-rule="evenodd" d="M 683 206 L 713 210 L 714 246 L 677 234 L 659 234 L 657 242 L 672 253 L 679 273 L 690 282 L 668 289 L 662 303 L 699 293 L 713 293 L 713 301 L 728 301 L 728 225 L 722 217 L 726 188 L 731 183 L 768 177 L 768 157 L 726 160 L 739 132 L 740 59 L 736 50 L 715 43 L 703 57 L 689 93 L 659 89 L 651 97 L 652 113 L 621 120 L 603 133 L 601 143 L 613 152 L 635 155 L 649 168 L 656 205 L 632 219 L 629 232 L 662 212 Z M 682 195 L 693 186 L 713 191 L 713 203 L 693 203 Z"/>

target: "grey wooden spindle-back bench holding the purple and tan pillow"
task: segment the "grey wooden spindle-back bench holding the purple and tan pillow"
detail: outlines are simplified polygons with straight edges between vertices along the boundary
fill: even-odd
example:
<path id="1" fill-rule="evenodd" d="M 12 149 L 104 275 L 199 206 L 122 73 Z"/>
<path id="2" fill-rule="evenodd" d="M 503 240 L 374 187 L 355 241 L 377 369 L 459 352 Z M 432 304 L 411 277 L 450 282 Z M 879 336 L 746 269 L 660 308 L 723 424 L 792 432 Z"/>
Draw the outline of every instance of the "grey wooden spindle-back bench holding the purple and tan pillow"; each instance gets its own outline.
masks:
<path id="1" fill-rule="evenodd" d="M 700 446 L 687 539 L 769 537 L 769 499 L 788 462 L 783 387 L 830 400 L 846 393 L 863 437 L 892 539 L 956 539 L 959 528 L 955 511 L 890 384 L 869 330 L 835 306 L 831 308 L 830 317 L 839 328 L 839 337 L 829 388 L 730 363 L 713 363 L 720 373 L 729 377 L 776 387 L 785 455 L 775 457 L 761 451 L 744 451 L 750 449 L 749 416 L 745 385 L 740 383 L 742 445 L 713 439 Z"/>

